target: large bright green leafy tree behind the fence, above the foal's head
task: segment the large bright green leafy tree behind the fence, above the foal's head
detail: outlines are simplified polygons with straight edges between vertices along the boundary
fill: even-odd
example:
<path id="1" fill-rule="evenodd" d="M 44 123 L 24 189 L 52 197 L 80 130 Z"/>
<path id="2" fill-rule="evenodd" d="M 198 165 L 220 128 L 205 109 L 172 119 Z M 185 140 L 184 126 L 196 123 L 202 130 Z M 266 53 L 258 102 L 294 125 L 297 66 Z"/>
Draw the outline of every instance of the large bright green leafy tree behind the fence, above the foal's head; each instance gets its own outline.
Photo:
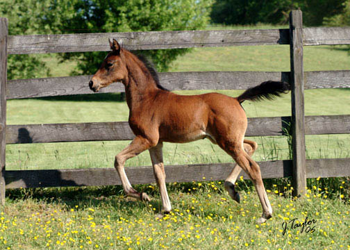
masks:
<path id="1" fill-rule="evenodd" d="M 69 4 L 60 22 L 47 16 L 47 25 L 56 33 L 93 33 L 128 31 L 175 31 L 197 29 L 209 19 L 212 1 L 206 0 L 74 0 L 54 1 L 51 10 L 58 13 Z M 106 41 L 107 43 L 108 41 Z M 151 57 L 160 71 L 165 71 L 178 55 L 188 49 L 142 51 Z M 62 60 L 78 60 L 78 70 L 92 74 L 106 52 L 66 53 Z"/>

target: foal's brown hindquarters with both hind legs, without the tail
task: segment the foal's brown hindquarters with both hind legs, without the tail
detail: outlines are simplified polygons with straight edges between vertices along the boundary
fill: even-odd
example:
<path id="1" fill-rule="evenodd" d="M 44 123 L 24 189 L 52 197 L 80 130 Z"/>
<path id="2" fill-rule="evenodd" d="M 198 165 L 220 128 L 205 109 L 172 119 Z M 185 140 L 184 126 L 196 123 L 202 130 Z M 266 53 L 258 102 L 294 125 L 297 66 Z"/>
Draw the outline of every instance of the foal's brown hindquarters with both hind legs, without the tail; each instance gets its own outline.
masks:
<path id="1" fill-rule="evenodd" d="M 258 223 L 263 223 L 272 217 L 272 207 L 265 192 L 260 167 L 251 158 L 258 145 L 256 142 L 244 140 L 244 134 L 247 130 L 247 116 L 239 101 L 226 96 L 215 98 L 216 96 L 217 94 L 211 94 L 206 97 L 210 99 L 208 103 L 215 103 L 210 105 L 214 118 L 211 124 L 208 124 L 208 128 L 210 128 L 210 132 L 219 147 L 232 156 L 237 163 L 226 178 L 224 188 L 232 199 L 240 202 L 240 196 L 238 192 L 235 192 L 235 181 L 242 168 L 249 175 L 258 192 L 260 203 L 263 206 L 263 215 L 258 219 Z"/>

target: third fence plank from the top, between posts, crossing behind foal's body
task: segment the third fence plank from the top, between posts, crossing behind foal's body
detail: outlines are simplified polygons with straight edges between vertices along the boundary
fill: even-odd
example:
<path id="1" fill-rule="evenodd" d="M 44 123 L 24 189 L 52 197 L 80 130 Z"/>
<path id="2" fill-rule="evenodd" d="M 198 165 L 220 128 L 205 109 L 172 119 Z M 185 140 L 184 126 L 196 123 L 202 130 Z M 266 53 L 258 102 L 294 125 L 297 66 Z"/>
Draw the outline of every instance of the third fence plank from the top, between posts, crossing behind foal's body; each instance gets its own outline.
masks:
<path id="1" fill-rule="evenodd" d="M 284 135 L 290 117 L 249 118 L 246 136 Z M 6 127 L 7 144 L 133 140 L 128 122 L 25 124 Z"/>

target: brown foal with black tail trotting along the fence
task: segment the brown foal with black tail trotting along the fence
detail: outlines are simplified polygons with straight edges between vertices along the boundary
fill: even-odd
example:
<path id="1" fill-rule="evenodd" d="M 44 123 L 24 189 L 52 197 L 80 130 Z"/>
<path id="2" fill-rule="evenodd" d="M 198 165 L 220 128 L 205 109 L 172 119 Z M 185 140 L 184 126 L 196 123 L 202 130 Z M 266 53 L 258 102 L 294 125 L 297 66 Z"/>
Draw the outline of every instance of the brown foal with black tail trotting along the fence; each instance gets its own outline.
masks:
<path id="1" fill-rule="evenodd" d="M 130 51 L 122 49 L 116 40 L 110 42 L 110 49 L 112 51 L 92 76 L 89 87 L 98 92 L 118 81 L 125 86 L 126 102 L 130 110 L 128 123 L 135 134 L 133 142 L 115 156 L 115 168 L 125 194 L 149 201 L 146 193 L 132 188 L 124 171 L 126 160 L 148 149 L 160 188 L 163 212 L 169 213 L 172 206 L 165 186 L 163 142 L 183 143 L 208 138 L 237 163 L 224 183 L 231 198 L 240 202 L 240 196 L 235 192 L 235 181 L 243 169 L 253 181 L 263 206 L 263 215 L 257 222 L 263 223 L 272 217 L 272 207 L 267 199 L 260 167 L 251 158 L 257 144 L 244 140 L 247 117 L 241 103 L 245 100 L 273 99 L 274 96 L 288 92 L 288 83 L 267 81 L 236 98 L 217 93 L 183 96 L 160 86 L 153 67 Z"/>

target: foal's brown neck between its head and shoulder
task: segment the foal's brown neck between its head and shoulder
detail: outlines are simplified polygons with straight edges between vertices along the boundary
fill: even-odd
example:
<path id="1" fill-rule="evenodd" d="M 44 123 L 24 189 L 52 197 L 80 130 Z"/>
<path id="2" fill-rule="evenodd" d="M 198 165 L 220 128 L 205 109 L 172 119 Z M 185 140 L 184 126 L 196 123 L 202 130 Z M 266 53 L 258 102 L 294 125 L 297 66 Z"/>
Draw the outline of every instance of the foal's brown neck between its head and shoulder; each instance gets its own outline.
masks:
<path id="1" fill-rule="evenodd" d="M 126 103 L 128 103 L 128 108 L 133 110 L 140 107 L 149 93 L 158 90 L 158 88 L 144 63 L 129 51 L 125 51 L 124 54 L 128 69 L 128 78 L 124 83 Z"/>

